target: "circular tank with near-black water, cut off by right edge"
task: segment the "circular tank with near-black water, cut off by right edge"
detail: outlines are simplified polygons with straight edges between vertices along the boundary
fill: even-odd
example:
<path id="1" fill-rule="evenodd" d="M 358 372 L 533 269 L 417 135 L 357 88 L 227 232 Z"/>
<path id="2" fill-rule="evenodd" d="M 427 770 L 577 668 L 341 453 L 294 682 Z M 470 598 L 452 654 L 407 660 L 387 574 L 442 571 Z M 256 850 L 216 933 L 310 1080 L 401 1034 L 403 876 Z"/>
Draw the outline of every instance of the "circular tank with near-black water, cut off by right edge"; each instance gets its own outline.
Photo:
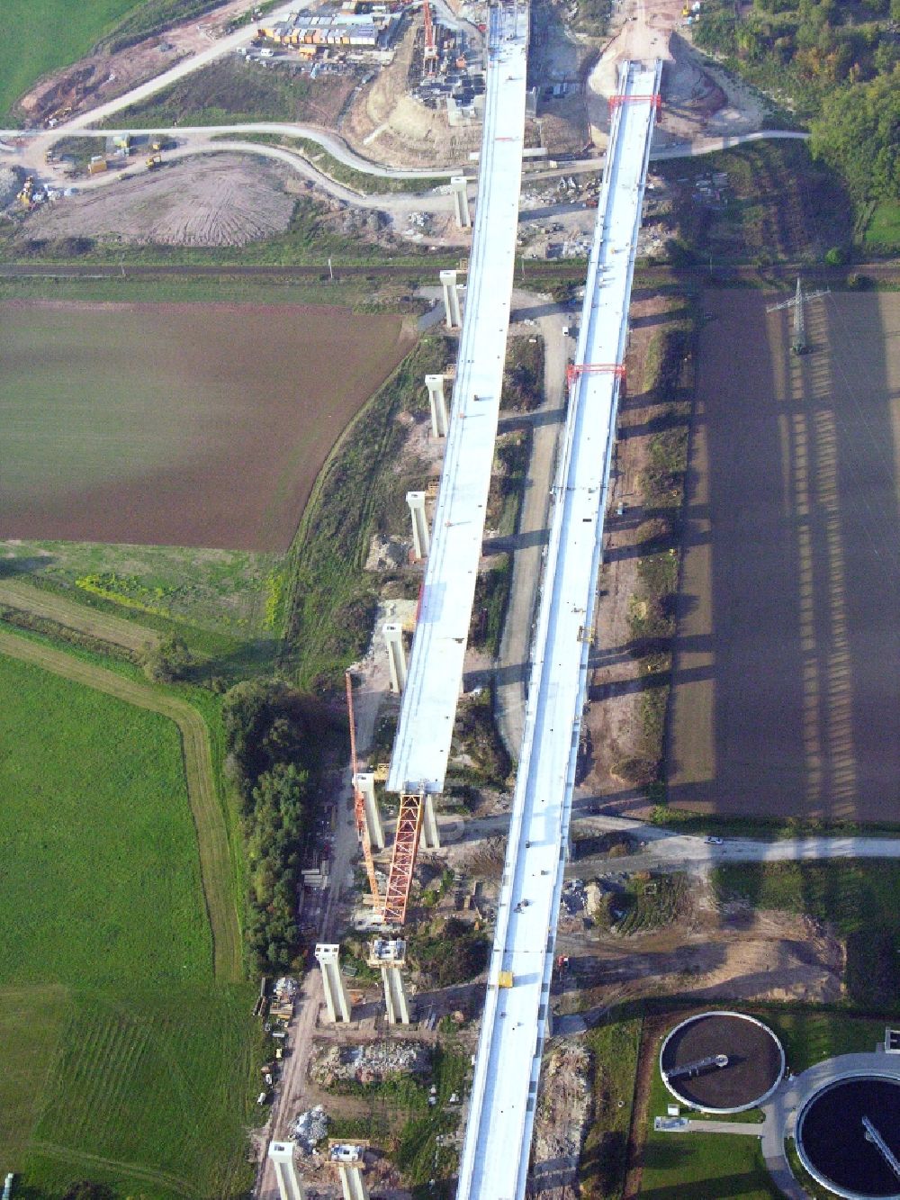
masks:
<path id="1" fill-rule="evenodd" d="M 900 1200 L 900 1080 L 852 1074 L 826 1084 L 800 1109 L 796 1139 L 805 1169 L 836 1196 Z"/>

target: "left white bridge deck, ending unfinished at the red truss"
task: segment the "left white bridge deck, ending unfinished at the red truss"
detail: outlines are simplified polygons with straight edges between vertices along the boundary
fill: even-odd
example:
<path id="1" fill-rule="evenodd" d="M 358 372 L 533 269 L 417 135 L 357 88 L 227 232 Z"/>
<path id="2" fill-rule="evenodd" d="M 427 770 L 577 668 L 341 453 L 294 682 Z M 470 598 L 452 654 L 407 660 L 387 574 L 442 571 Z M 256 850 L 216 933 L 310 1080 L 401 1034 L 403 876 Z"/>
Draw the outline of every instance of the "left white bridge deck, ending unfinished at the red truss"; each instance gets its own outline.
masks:
<path id="1" fill-rule="evenodd" d="M 492 6 L 490 22 L 469 283 L 444 469 L 389 792 L 444 788 L 491 486 L 518 228 L 528 6 Z"/>

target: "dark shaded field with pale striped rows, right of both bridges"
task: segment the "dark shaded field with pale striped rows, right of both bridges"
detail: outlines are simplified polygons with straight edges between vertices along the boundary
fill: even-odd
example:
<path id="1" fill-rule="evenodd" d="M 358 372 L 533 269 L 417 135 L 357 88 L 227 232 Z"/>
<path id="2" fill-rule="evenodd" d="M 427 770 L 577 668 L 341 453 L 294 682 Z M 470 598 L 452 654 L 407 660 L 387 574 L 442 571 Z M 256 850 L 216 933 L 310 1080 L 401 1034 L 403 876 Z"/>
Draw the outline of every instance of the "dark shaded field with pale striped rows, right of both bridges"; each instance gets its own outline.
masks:
<path id="1" fill-rule="evenodd" d="M 667 737 L 670 803 L 898 821 L 900 304 L 713 292 L 701 334 Z M 690 606 L 685 607 L 685 598 Z M 704 646 L 706 640 L 706 648 Z"/>

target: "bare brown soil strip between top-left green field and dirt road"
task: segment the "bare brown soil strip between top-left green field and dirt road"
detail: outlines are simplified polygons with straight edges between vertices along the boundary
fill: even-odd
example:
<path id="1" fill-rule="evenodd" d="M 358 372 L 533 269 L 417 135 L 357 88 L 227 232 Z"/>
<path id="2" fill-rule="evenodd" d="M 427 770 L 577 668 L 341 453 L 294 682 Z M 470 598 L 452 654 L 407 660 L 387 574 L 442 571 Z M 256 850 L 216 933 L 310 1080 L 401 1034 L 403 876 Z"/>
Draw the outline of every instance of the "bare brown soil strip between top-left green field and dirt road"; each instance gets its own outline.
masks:
<path id="1" fill-rule="evenodd" d="M 203 17 L 173 25 L 116 54 L 95 54 L 42 79 L 18 103 L 28 125 L 40 125 L 60 108 L 68 116 L 124 95 L 161 74 L 180 59 L 209 48 L 229 20 L 247 11 L 247 0 L 229 0 Z"/>

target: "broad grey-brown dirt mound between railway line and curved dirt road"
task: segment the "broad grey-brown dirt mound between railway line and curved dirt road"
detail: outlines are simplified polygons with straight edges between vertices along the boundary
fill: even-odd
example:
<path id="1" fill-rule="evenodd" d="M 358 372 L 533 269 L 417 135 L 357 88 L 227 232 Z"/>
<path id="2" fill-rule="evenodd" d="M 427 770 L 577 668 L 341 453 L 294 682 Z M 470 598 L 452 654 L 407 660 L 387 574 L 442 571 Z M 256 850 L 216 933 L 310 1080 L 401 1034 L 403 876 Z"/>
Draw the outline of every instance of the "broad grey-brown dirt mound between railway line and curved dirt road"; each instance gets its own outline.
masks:
<path id="1" fill-rule="evenodd" d="M 121 238 L 164 246 L 245 246 L 287 229 L 282 172 L 216 155 L 85 191 L 36 212 L 30 238 Z"/>

